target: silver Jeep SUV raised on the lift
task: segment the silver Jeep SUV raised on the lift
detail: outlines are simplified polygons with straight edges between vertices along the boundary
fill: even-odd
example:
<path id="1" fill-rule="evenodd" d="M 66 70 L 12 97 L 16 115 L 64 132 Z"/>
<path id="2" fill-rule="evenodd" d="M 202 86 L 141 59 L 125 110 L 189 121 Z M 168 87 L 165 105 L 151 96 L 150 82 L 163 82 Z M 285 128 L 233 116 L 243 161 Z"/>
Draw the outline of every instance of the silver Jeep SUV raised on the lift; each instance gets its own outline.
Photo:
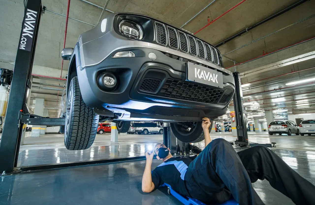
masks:
<path id="1" fill-rule="evenodd" d="M 232 73 L 217 48 L 140 14 L 114 13 L 82 33 L 67 77 L 65 146 L 89 148 L 100 120 L 128 132 L 130 121 L 169 122 L 184 142 L 204 139 L 202 117 L 226 114 Z"/>

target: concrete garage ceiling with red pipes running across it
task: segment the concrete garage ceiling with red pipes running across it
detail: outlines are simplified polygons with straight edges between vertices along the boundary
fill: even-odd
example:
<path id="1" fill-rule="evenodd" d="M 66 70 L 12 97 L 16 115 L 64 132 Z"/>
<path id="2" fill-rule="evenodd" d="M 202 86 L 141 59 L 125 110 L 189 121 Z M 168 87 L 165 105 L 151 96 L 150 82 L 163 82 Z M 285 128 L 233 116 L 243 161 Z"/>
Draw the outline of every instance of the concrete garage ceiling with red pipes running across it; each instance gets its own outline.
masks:
<path id="1" fill-rule="evenodd" d="M 214 2 L 213 0 L 109 0 L 107 9 L 113 12 L 145 14 L 169 23 L 170 25 L 181 27 L 209 5 L 209 3 L 213 2 L 209 7 L 183 26 L 183 29 L 195 33 L 208 23 L 208 16 L 210 20 L 213 20 L 240 1 L 241 0 L 215 0 Z M 43 0 L 42 4 L 50 11 L 66 15 L 67 2 L 66 0 Z M 100 8 L 82 0 L 71 0 L 69 17 L 84 21 L 88 24 L 69 19 L 66 47 L 73 47 L 82 32 L 93 28 L 92 25 L 97 24 L 106 0 L 89 0 L 89 2 L 98 5 Z M 228 37 L 237 34 L 239 31 L 272 16 L 296 2 L 298 2 L 298 0 L 245 1 L 198 32 L 196 36 L 216 45 Z M 13 69 L 23 19 L 23 0 L 0 0 L 0 8 L 2 10 L 0 18 L 4 19 L 0 22 L 0 36 L 2 40 L 0 42 L 0 67 Z M 264 53 L 270 53 L 310 39 L 315 36 L 314 8 L 315 1 L 306 1 L 296 8 L 248 31 L 242 36 L 236 37 L 218 48 L 224 57 L 230 58 L 236 63 L 242 63 Z M 53 77 L 64 77 L 66 75 L 65 71 L 67 70 L 68 62 L 64 62 L 64 71 L 61 73 L 60 52 L 63 48 L 66 18 L 51 13 L 48 10 L 41 18 L 33 72 Z M 108 14 L 110 14 L 110 12 L 105 11 L 101 19 L 105 18 Z M 257 40 L 260 38 L 261 40 Z M 314 100 L 311 98 L 315 97 L 315 94 L 312 92 L 304 93 L 315 90 L 314 86 L 290 90 L 279 89 L 281 87 L 287 87 L 284 84 L 286 81 L 291 81 L 290 78 L 297 80 L 313 76 L 312 74 L 315 69 L 270 78 L 291 71 L 314 67 L 315 60 L 312 54 L 314 51 L 315 40 L 312 40 L 266 55 L 262 58 L 254 59 L 251 62 L 237 65 L 235 70 L 242 74 L 243 83 L 256 81 L 244 88 L 246 89 L 244 90 L 244 95 L 247 95 L 246 100 L 255 102 L 256 104 L 256 107 L 250 108 L 252 106 L 249 106 L 248 109 L 272 110 L 280 106 L 288 108 L 290 113 L 315 112 L 315 98 Z M 234 71 L 234 67 L 231 67 L 234 63 L 227 58 L 223 58 L 225 67 L 230 67 L 228 69 Z M 52 81 L 47 83 L 51 84 Z M 278 89 L 276 90 L 277 92 L 271 92 L 271 90 L 274 89 Z M 35 90 L 36 89 L 34 89 L 34 91 Z M 43 89 L 41 89 L 41 92 L 43 92 Z M 45 92 L 56 94 L 55 91 L 52 90 L 46 90 Z M 251 96 L 251 94 L 255 95 L 248 97 Z M 51 95 L 50 97 L 48 97 L 47 94 L 42 95 L 34 93 L 32 97 L 45 97 L 47 101 L 53 101 L 54 97 L 51 98 Z M 274 97 L 281 96 L 285 96 L 281 98 L 283 102 L 274 102 Z M 293 100 L 307 100 L 309 105 L 298 107 Z M 51 104 L 53 104 L 53 102 Z M 54 107 L 56 106 L 55 100 Z"/>

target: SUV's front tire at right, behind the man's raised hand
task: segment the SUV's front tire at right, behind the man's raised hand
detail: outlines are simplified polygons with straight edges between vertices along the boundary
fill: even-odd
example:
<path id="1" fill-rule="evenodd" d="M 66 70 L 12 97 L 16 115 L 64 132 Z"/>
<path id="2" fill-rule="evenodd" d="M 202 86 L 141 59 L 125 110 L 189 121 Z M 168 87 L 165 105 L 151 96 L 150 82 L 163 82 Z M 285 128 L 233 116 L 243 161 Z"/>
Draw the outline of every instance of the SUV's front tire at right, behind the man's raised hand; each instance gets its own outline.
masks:
<path id="1" fill-rule="evenodd" d="M 213 122 L 210 120 L 211 125 L 209 132 L 212 129 Z M 182 142 L 200 142 L 204 140 L 204 133 L 201 127 L 202 121 L 199 122 L 183 122 L 183 123 L 170 123 L 171 130 L 175 137 Z M 185 126 L 190 127 L 186 129 Z"/>

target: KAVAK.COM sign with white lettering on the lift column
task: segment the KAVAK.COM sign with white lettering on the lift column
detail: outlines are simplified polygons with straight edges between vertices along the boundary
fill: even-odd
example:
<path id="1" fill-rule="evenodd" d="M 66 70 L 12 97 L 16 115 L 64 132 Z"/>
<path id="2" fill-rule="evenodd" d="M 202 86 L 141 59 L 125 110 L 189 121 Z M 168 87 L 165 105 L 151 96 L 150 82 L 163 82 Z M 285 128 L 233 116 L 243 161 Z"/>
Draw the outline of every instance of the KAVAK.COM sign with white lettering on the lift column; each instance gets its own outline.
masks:
<path id="1" fill-rule="evenodd" d="M 23 32 L 20 37 L 19 49 L 31 51 L 36 20 L 37 12 L 27 9 L 24 17 Z"/>

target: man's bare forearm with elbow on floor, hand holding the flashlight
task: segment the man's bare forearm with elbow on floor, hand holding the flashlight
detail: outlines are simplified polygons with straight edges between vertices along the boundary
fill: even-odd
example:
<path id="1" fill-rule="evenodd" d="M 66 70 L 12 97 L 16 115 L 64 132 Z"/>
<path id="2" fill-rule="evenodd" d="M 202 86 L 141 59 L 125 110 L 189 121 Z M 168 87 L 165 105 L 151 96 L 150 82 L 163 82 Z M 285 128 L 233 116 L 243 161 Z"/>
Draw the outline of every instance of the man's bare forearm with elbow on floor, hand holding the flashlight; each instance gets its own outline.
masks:
<path id="1" fill-rule="evenodd" d="M 151 165 L 154 152 L 146 152 L 146 167 L 144 168 L 142 176 L 142 191 L 145 193 L 150 193 L 154 189 L 154 184 L 152 182 L 151 176 Z"/>

